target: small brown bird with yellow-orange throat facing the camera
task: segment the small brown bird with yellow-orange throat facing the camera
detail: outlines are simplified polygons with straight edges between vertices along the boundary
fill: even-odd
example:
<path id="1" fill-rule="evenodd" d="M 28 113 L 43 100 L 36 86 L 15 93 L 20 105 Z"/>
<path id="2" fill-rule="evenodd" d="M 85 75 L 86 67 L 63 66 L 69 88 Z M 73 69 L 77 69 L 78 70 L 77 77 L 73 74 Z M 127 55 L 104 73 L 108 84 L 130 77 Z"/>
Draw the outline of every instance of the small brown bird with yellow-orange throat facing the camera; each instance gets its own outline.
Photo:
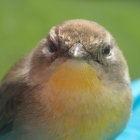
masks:
<path id="1" fill-rule="evenodd" d="M 1 80 L 0 136 L 112 140 L 132 100 L 128 65 L 111 33 L 94 21 L 64 21 Z"/>

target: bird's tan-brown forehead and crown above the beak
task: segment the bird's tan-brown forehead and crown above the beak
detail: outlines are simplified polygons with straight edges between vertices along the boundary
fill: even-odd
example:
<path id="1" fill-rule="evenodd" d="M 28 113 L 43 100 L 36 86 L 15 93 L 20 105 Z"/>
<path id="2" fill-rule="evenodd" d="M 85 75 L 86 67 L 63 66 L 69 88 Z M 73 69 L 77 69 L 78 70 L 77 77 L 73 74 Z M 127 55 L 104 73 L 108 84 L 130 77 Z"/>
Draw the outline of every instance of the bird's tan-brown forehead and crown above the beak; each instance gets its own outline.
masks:
<path id="1" fill-rule="evenodd" d="M 84 20 L 72 20 L 59 25 L 58 38 L 63 46 L 81 43 L 87 49 L 111 42 L 111 35 L 102 26 Z"/>

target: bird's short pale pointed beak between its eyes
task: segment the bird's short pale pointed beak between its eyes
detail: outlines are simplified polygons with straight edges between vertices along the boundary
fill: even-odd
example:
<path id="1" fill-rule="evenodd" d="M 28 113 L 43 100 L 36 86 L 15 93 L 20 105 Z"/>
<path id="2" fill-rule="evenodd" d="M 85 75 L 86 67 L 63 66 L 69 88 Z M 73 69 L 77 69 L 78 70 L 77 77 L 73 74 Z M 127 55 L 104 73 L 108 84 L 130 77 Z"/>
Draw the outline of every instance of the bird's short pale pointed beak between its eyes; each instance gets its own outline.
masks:
<path id="1" fill-rule="evenodd" d="M 69 55 L 74 58 L 82 58 L 87 55 L 86 50 L 84 49 L 84 46 L 81 43 L 75 43 L 70 49 L 69 49 Z"/>

